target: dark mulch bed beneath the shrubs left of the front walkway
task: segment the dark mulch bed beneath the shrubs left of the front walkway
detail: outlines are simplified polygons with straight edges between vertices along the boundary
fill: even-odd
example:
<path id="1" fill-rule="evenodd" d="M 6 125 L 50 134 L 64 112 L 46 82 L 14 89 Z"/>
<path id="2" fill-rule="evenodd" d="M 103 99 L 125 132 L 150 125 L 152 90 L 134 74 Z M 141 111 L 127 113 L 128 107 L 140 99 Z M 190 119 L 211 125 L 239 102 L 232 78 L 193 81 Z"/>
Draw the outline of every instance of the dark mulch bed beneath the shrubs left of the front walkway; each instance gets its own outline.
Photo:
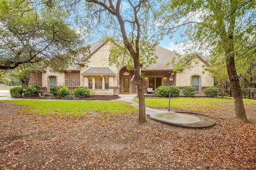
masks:
<path id="1" fill-rule="evenodd" d="M 63 100 L 63 98 L 57 98 L 57 96 L 52 96 L 51 98 L 49 98 L 48 95 L 45 95 L 44 97 L 39 97 L 39 96 L 30 96 L 30 97 L 20 97 L 20 98 L 24 98 L 24 99 L 60 99 Z M 77 98 L 75 100 L 115 100 L 115 99 L 119 99 L 120 97 L 118 95 L 93 95 L 93 96 L 89 96 L 86 98 Z M 74 100 L 74 98 L 66 98 L 66 100 Z"/>

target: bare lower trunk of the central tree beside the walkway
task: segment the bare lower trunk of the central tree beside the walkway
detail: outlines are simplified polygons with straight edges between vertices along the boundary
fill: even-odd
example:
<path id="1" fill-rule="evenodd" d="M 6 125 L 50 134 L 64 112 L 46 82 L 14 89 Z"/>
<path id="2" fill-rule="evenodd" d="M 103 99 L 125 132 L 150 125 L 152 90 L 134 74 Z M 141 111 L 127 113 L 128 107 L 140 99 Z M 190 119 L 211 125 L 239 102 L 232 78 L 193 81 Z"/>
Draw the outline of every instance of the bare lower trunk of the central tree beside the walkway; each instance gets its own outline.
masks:
<path id="1" fill-rule="evenodd" d="M 134 76 L 137 84 L 137 92 L 139 98 L 139 122 L 146 123 L 146 110 L 145 110 L 145 97 L 143 92 L 143 84 L 142 79 L 140 77 L 140 62 L 138 60 L 134 60 Z"/>

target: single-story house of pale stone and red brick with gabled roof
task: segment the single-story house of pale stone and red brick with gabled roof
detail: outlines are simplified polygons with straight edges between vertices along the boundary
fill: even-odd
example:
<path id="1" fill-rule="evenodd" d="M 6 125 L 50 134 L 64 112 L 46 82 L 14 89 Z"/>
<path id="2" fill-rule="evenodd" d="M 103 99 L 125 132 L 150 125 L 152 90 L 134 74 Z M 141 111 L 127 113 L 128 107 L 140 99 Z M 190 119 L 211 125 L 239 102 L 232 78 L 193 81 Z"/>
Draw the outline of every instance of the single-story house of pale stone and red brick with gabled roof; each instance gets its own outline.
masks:
<path id="1" fill-rule="evenodd" d="M 50 72 L 30 75 L 29 86 L 39 85 L 43 87 L 44 94 L 49 92 L 51 86 L 66 86 L 71 91 L 77 87 L 85 87 L 92 90 L 93 95 L 119 95 L 136 94 L 137 88 L 133 77 L 133 70 L 127 70 L 125 66 L 117 67 L 109 65 L 110 40 L 97 42 L 91 45 L 91 53 L 86 56 L 88 61 L 79 63 L 77 66 L 69 67 L 63 72 Z M 141 66 L 141 72 L 145 74 L 143 89 L 147 93 L 147 87 L 155 90 L 159 86 L 169 86 L 169 77 L 173 73 L 172 65 L 166 66 L 175 53 L 166 48 L 157 46 L 155 50 L 158 56 L 156 63 L 145 68 Z M 191 69 L 173 73 L 172 84 L 182 91 L 184 86 L 196 88 L 196 95 L 204 95 L 203 89 L 213 86 L 213 77 L 210 72 L 203 73 L 203 66 L 207 61 L 198 56 L 198 62 Z"/>

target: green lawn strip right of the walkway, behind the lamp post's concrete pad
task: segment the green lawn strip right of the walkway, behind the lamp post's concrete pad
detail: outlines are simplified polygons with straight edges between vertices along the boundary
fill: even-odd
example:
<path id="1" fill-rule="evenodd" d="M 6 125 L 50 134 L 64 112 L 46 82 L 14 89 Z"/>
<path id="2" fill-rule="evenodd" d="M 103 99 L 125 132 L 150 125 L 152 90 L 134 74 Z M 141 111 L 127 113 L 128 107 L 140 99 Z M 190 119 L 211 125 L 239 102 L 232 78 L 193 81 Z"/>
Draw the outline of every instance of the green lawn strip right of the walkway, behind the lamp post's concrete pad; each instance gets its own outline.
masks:
<path id="1" fill-rule="evenodd" d="M 138 99 L 134 99 L 138 102 Z M 167 108 L 169 99 L 145 99 L 145 104 L 151 108 Z M 219 108 L 220 104 L 233 104 L 233 99 L 218 99 L 218 98 L 171 98 L 170 107 L 176 110 L 198 112 L 207 108 Z M 244 99 L 246 106 L 256 105 L 256 100 Z"/>

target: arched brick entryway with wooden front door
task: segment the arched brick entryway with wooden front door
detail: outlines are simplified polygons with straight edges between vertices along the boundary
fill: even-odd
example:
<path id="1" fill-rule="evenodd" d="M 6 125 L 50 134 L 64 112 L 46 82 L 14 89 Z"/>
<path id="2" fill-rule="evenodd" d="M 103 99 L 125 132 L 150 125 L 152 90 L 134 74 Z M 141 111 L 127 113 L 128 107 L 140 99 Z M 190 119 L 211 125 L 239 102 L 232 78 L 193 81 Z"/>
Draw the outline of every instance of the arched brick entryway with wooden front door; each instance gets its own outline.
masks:
<path id="1" fill-rule="evenodd" d="M 119 93 L 120 94 L 136 94 L 136 82 L 133 70 L 127 70 L 123 67 L 119 71 Z"/>

